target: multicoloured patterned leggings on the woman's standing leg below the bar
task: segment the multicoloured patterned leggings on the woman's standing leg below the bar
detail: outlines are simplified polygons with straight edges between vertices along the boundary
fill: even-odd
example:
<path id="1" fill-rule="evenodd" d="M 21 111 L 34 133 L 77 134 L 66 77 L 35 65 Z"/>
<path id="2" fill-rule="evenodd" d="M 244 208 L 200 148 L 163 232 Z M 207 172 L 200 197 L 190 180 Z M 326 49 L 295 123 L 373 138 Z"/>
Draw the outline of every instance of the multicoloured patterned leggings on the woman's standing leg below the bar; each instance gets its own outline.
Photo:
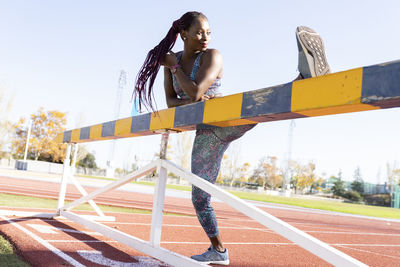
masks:
<path id="1" fill-rule="evenodd" d="M 253 125 L 233 127 L 201 127 L 196 131 L 192 150 L 192 173 L 215 183 L 221 160 L 229 144 L 244 135 Z M 210 204 L 211 195 L 200 188 L 192 187 L 192 202 L 197 218 L 208 237 L 219 234 L 217 218 Z"/>

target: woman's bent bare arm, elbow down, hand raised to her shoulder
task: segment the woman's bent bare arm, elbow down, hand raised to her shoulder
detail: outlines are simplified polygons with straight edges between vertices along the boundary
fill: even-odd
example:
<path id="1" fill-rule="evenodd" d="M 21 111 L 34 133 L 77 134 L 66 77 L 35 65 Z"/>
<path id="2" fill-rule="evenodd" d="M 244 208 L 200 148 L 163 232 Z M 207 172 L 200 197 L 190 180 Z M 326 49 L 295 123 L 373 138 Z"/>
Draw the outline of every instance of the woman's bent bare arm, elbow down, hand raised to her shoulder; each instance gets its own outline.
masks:
<path id="1" fill-rule="evenodd" d="M 211 86 L 218 75 L 222 73 L 222 66 L 222 56 L 218 50 L 209 49 L 202 56 L 202 63 L 197 71 L 195 81 L 192 81 L 190 77 L 183 72 L 182 68 L 178 68 L 176 70 L 175 76 L 182 90 L 187 96 L 190 97 L 192 101 L 206 100 L 204 93 Z"/>

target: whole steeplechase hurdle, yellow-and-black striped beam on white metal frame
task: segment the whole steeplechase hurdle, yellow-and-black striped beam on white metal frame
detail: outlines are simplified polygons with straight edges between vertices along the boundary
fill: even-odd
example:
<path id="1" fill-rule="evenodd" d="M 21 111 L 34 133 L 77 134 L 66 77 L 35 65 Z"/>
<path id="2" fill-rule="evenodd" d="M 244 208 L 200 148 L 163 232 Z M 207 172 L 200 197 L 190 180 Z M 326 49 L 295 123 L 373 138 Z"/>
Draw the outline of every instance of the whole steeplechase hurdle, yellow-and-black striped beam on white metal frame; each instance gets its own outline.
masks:
<path id="1" fill-rule="evenodd" d="M 393 61 L 65 131 L 57 136 L 58 142 L 68 144 L 57 214 L 167 264 L 201 266 L 202 264 L 190 258 L 160 246 L 166 176 L 169 171 L 187 179 L 213 197 L 217 197 L 334 266 L 366 266 L 349 255 L 166 160 L 166 144 L 169 134 L 195 130 L 198 124 L 227 127 L 399 106 L 400 61 Z M 78 143 L 154 134 L 162 135 L 160 159 L 90 194 L 80 190 L 82 198 L 64 205 L 66 183 L 73 177 L 69 162 L 71 146 Z M 96 207 L 93 202 L 95 197 L 154 171 L 159 176 L 155 185 L 148 242 L 107 227 L 95 221 L 94 218 L 87 218 L 71 211 L 85 202 Z M 74 184 L 79 187 L 76 180 Z M 99 215 L 98 218 L 106 218 L 98 208 L 96 208 L 96 212 Z"/>

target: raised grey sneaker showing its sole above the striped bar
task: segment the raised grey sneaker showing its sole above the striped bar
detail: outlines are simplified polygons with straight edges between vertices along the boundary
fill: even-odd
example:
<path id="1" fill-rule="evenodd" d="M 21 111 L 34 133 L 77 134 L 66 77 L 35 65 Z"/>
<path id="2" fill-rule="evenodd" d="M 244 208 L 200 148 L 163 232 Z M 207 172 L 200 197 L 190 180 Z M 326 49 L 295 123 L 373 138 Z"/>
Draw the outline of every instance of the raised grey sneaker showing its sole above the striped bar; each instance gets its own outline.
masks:
<path id="1" fill-rule="evenodd" d="M 303 78 L 325 75 L 331 72 L 325 55 L 324 42 L 314 30 L 299 26 L 296 29 L 299 49 L 299 72 Z"/>

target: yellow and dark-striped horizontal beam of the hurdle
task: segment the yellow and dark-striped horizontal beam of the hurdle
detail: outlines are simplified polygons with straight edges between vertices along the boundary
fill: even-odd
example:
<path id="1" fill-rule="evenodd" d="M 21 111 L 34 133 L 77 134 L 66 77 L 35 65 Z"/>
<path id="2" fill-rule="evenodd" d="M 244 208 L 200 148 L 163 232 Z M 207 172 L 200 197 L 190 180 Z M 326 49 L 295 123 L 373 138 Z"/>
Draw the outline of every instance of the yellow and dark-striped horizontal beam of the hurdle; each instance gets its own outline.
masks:
<path id="1" fill-rule="evenodd" d="M 299 80 L 65 131 L 58 142 L 84 143 L 400 106 L 400 60 Z"/>

